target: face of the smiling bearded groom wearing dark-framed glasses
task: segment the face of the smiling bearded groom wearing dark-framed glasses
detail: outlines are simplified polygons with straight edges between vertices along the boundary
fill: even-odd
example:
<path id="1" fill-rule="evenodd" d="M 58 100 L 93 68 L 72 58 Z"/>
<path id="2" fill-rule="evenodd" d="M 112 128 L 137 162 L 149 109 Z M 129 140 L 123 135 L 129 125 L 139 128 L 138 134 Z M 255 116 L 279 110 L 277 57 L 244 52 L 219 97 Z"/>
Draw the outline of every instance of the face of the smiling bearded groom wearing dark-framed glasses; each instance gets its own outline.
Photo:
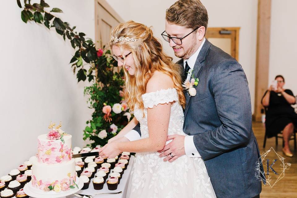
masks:
<path id="1" fill-rule="evenodd" d="M 178 37 L 182 38 L 193 31 L 191 28 L 186 28 L 185 26 L 179 26 L 176 24 L 171 24 L 168 21 L 166 21 L 165 24 L 165 31 L 170 37 Z M 178 45 L 175 44 L 171 39 L 169 42 L 170 47 L 174 50 L 174 55 L 179 58 L 187 59 L 192 54 L 196 52 L 196 50 L 199 48 L 197 45 L 197 37 L 196 32 L 192 32 L 187 37 L 183 38 L 182 44 Z"/>

